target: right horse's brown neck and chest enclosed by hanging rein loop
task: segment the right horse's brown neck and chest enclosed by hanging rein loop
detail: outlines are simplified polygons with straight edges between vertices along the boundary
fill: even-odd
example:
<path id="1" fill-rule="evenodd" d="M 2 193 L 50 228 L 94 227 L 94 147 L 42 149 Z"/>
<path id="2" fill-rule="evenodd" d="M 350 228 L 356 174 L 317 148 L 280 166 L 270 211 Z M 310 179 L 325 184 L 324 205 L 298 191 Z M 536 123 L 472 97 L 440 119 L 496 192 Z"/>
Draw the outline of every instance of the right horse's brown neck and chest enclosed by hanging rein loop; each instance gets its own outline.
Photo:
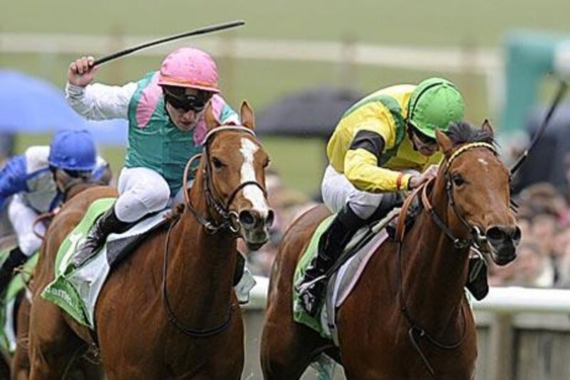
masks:
<path id="1" fill-rule="evenodd" d="M 467 237 L 465 227 L 454 222 L 447 206 L 445 181 L 438 179 L 432 207 L 451 227 L 455 237 Z M 403 289 L 410 314 L 423 327 L 446 331 L 460 318 L 467 279 L 468 249 L 458 250 L 424 209 L 403 246 Z M 408 255 L 408 257 L 405 257 Z"/>

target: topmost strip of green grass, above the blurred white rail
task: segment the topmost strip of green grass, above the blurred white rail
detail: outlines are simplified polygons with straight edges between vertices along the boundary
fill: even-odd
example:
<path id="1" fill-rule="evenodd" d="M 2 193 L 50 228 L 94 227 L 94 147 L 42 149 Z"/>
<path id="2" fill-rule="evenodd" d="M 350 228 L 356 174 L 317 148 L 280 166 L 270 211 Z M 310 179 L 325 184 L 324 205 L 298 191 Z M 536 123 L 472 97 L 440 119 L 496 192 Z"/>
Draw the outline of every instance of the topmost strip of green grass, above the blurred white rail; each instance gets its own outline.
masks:
<path id="1" fill-rule="evenodd" d="M 244 19 L 247 26 L 239 36 L 491 46 L 513 28 L 567 32 L 567 6 L 566 0 L 6 0 L 0 27 L 3 31 L 168 35 Z"/>

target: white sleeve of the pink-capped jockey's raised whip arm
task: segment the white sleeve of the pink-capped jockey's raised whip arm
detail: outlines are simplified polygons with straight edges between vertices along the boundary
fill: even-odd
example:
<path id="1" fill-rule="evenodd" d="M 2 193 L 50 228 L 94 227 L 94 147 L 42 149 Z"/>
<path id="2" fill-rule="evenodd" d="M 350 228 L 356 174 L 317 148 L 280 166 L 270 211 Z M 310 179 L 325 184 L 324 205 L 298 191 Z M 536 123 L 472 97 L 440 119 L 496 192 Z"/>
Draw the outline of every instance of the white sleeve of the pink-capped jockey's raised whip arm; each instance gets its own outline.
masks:
<path id="1" fill-rule="evenodd" d="M 137 89 L 137 83 L 124 86 L 107 86 L 93 83 L 86 87 L 66 85 L 66 99 L 77 113 L 91 120 L 128 118 L 130 98 Z"/>

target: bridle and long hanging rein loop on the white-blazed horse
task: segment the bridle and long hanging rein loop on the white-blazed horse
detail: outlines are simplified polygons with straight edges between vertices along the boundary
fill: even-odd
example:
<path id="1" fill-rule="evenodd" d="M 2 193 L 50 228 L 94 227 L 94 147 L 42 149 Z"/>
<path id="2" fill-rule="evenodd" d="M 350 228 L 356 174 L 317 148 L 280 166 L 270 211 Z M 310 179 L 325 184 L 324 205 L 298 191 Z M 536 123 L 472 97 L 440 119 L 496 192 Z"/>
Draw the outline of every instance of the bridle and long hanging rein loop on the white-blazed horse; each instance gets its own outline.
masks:
<path id="1" fill-rule="evenodd" d="M 200 225 L 202 225 L 204 227 L 206 232 L 209 234 L 215 234 L 216 232 L 219 232 L 219 231 L 225 230 L 225 229 L 228 229 L 233 234 L 235 234 L 239 231 L 239 225 L 236 227 L 233 224 L 234 220 L 237 220 L 238 215 L 236 212 L 230 211 L 229 207 L 232 205 L 232 202 L 234 201 L 238 192 L 243 190 L 246 186 L 256 185 L 258 188 L 261 189 L 263 194 L 266 196 L 266 190 L 259 183 L 257 183 L 256 181 L 246 181 L 244 183 L 240 183 L 237 186 L 237 188 L 235 188 L 231 192 L 231 194 L 228 197 L 227 202 L 225 202 L 225 205 L 223 204 L 223 202 L 221 202 L 219 200 L 219 197 L 217 196 L 216 192 L 214 192 L 214 188 L 212 188 L 212 178 L 211 178 L 212 168 L 210 167 L 210 163 L 209 163 L 209 143 L 212 141 L 210 139 L 212 137 L 212 135 L 214 135 L 215 133 L 221 132 L 223 130 L 237 130 L 237 131 L 247 132 L 250 135 L 255 136 L 255 133 L 253 132 L 253 130 L 251 130 L 249 128 L 239 126 L 239 125 L 235 125 L 235 126 L 223 125 L 223 126 L 220 126 L 220 127 L 217 127 L 217 128 L 210 130 L 202 142 L 202 145 L 204 145 L 204 152 L 205 152 L 205 157 L 204 157 L 205 168 L 204 168 L 204 171 L 202 172 L 202 174 L 204 175 L 204 195 L 206 197 L 206 203 L 208 206 L 208 210 L 210 210 L 213 207 L 214 210 L 218 213 L 218 215 L 220 217 L 222 217 L 223 222 L 218 223 L 218 222 L 215 222 L 214 220 L 211 220 L 211 218 L 204 217 L 204 216 L 200 215 L 199 212 L 197 212 L 195 207 L 192 205 L 192 202 L 190 200 L 190 190 L 187 188 L 188 173 L 190 172 L 190 167 L 192 166 L 192 163 L 194 162 L 194 160 L 196 160 L 197 158 L 201 158 L 202 153 L 194 155 L 194 156 L 192 156 L 192 158 L 190 158 L 190 160 L 188 160 L 188 162 L 186 163 L 186 167 L 184 169 L 184 178 L 182 180 L 182 188 L 184 189 L 183 192 L 184 192 L 185 205 L 186 205 L 186 207 L 188 207 L 188 210 L 190 210 L 190 212 L 192 213 L 192 216 L 195 217 L 195 219 L 200 223 Z M 212 337 L 214 335 L 217 335 L 217 334 L 223 332 L 225 329 L 227 329 L 227 327 L 229 326 L 229 322 L 232 320 L 232 314 L 234 312 L 234 307 L 235 307 L 234 304 L 229 305 L 229 308 L 228 308 L 228 311 L 226 313 L 226 317 L 224 318 L 224 320 L 222 322 L 220 322 L 219 324 L 215 325 L 214 327 L 209 327 L 207 329 L 191 329 L 190 327 L 186 327 L 184 324 L 182 324 L 182 322 L 180 322 L 180 320 L 176 317 L 174 310 L 170 306 L 170 302 L 168 300 L 168 291 L 167 291 L 167 267 L 168 267 L 168 265 L 167 264 L 168 264 L 168 256 L 169 256 L 168 253 L 169 253 L 170 233 L 172 232 L 172 229 L 174 228 L 174 226 L 177 224 L 177 222 L 179 220 L 180 220 L 180 217 L 177 217 L 170 224 L 170 227 L 168 228 L 168 232 L 166 234 L 166 240 L 165 240 L 164 259 L 162 262 L 162 299 L 164 299 L 166 311 L 168 314 L 168 321 L 170 323 L 172 323 L 172 325 L 174 327 L 176 327 L 182 333 L 184 333 L 185 335 L 187 335 L 189 337 L 193 337 L 193 338 Z"/>

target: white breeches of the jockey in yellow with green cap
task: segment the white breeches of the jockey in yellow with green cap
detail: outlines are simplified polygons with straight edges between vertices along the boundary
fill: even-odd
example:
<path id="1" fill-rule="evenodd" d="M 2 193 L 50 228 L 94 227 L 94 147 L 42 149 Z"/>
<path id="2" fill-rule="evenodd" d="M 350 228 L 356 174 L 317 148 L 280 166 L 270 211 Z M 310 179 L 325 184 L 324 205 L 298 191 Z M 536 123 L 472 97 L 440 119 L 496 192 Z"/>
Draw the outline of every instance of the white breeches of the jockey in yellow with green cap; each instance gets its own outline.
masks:
<path id="1" fill-rule="evenodd" d="M 415 170 L 405 170 L 405 173 L 417 174 Z M 323 202 L 332 212 L 338 212 L 348 203 L 351 210 L 363 220 L 373 215 L 380 205 L 385 193 L 373 193 L 358 190 L 348 181 L 346 176 L 338 173 L 328 165 L 321 185 Z"/>

